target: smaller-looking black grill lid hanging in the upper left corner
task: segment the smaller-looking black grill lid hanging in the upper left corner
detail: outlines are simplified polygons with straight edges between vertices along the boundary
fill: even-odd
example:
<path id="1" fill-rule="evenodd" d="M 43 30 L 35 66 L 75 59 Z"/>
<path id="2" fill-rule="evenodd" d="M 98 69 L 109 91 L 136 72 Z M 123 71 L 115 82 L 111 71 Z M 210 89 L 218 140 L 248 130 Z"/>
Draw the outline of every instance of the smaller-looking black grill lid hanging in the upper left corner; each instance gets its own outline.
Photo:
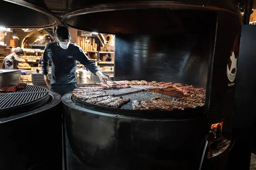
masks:
<path id="1" fill-rule="evenodd" d="M 0 0 L 0 26 L 7 28 L 47 28 L 60 21 L 44 0 Z"/>

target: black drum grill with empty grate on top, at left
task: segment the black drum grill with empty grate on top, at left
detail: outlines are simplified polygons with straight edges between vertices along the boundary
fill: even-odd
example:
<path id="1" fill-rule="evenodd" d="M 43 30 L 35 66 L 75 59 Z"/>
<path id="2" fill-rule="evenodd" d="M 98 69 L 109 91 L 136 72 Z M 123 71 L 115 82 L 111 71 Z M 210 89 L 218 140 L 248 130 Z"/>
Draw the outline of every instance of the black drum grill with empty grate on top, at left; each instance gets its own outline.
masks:
<path id="1" fill-rule="evenodd" d="M 39 86 L 0 91 L 0 169 L 62 169 L 61 96 Z"/>

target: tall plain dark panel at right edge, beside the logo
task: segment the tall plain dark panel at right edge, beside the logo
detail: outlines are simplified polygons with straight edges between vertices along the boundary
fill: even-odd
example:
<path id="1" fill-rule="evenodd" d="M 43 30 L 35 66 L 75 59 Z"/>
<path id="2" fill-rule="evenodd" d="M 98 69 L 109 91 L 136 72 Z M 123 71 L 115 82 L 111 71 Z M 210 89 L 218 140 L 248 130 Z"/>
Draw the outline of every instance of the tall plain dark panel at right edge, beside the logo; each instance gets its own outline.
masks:
<path id="1" fill-rule="evenodd" d="M 256 26 L 243 25 L 236 75 L 233 137 L 236 139 L 230 156 L 230 170 L 250 169 L 251 153 L 256 152 Z"/>

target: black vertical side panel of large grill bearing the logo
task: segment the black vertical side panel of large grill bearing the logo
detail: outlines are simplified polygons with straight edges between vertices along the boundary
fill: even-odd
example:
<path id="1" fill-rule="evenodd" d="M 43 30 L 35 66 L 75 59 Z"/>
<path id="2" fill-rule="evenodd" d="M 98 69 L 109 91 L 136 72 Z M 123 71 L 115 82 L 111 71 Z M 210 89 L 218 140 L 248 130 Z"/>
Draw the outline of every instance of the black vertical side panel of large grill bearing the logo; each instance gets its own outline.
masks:
<path id="1" fill-rule="evenodd" d="M 219 12 L 205 103 L 208 107 L 205 112 L 212 122 L 221 122 L 233 115 L 240 36 L 241 17 Z"/>

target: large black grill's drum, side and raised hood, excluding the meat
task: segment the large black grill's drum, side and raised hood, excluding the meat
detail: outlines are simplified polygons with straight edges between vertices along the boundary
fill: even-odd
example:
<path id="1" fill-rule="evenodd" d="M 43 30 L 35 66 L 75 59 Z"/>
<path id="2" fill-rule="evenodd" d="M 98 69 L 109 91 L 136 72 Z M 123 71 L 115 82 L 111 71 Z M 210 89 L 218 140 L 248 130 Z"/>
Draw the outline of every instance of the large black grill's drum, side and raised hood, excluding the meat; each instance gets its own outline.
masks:
<path id="1" fill-rule="evenodd" d="M 193 159 L 204 148 L 201 141 L 211 124 L 227 124 L 233 116 L 242 17 L 232 1 L 78 1 L 73 0 L 61 22 L 79 30 L 115 34 L 115 80 L 194 85 L 206 89 L 206 100 L 205 116 L 188 118 L 183 113 L 160 117 L 161 113 L 100 111 L 93 105 L 75 105 L 65 96 L 68 168 L 199 169 L 199 164 L 195 168 L 189 161 L 197 162 Z M 81 22 L 94 18 L 102 20 L 90 26 Z M 154 134 L 163 136 L 154 138 Z M 225 137 L 230 140 L 230 131 Z M 215 164 L 218 169 L 225 166 Z"/>

